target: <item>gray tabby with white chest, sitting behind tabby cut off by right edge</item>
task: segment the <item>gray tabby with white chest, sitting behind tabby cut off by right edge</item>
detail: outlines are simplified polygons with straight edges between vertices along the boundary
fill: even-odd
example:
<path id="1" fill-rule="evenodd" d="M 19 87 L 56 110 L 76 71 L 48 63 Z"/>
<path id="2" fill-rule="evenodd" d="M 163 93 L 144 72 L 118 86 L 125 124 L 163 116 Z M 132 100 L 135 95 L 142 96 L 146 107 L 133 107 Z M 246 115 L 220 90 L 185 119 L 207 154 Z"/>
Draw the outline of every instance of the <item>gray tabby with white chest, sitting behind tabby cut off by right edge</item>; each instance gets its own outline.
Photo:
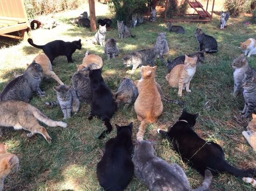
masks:
<path id="1" fill-rule="evenodd" d="M 232 68 L 235 69 L 233 76 L 234 76 L 234 92 L 233 96 L 236 97 L 239 93 L 243 93 L 243 88 L 241 86 L 244 73 L 251 70 L 248 60 L 246 57 L 241 55 L 233 60 Z"/>

